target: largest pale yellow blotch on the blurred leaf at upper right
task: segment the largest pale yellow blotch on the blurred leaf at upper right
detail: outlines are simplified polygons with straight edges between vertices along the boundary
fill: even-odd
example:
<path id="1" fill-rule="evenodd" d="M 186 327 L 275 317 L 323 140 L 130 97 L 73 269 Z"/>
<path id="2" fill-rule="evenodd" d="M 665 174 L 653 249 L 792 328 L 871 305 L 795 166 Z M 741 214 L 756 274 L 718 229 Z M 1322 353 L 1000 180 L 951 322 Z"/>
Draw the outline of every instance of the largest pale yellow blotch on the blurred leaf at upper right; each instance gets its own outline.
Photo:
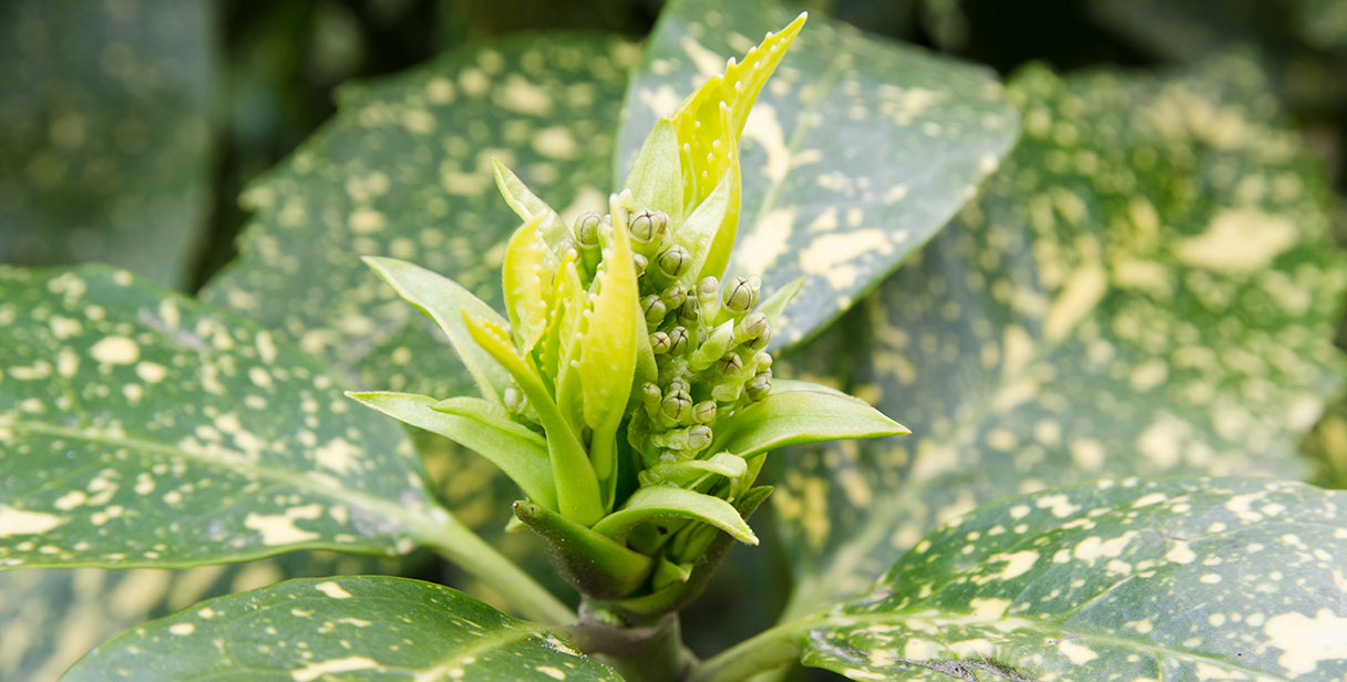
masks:
<path id="1" fill-rule="evenodd" d="M 1175 257 L 1185 265 L 1224 274 L 1241 274 L 1266 268 L 1300 239 L 1300 233 L 1285 215 L 1257 209 L 1227 209 L 1207 231 L 1180 241 Z"/>

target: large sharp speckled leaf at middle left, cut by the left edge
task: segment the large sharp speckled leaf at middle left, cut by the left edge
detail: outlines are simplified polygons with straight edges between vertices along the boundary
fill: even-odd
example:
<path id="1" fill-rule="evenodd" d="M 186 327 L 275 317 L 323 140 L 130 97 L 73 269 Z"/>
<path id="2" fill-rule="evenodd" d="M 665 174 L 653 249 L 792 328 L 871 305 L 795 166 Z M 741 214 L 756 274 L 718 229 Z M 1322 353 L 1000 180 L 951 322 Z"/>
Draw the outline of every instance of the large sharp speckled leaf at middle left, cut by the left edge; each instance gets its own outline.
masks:
<path id="1" fill-rule="evenodd" d="M 0 269 L 0 566 L 405 550 L 446 518 L 317 361 L 125 270 Z"/>

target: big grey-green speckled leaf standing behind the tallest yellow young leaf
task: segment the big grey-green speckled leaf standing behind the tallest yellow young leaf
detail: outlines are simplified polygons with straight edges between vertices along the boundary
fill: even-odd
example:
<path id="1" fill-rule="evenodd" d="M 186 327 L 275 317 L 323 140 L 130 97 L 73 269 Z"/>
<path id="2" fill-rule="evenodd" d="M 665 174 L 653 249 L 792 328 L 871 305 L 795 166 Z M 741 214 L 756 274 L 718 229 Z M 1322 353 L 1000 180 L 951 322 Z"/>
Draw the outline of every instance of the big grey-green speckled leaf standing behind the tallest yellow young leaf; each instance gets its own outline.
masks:
<path id="1" fill-rule="evenodd" d="M 659 117 L 795 13 L 769 0 L 669 3 L 626 96 L 617 178 Z M 773 336 L 799 340 L 929 239 L 1017 135 L 989 71 L 811 16 L 744 128 L 727 272 L 761 273 L 769 292 L 808 276 Z"/>

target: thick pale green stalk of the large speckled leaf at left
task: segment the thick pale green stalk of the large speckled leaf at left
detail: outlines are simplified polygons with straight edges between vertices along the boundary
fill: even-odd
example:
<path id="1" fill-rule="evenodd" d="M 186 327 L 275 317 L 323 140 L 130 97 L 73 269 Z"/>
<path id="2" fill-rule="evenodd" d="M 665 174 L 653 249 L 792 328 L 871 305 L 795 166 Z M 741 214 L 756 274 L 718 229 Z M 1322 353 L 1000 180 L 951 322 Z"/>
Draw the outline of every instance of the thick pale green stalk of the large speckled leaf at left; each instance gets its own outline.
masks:
<path id="1" fill-rule="evenodd" d="M 434 519 L 420 529 L 418 539 L 453 561 L 470 576 L 500 591 L 524 616 L 551 626 L 575 623 L 575 612 L 458 521 Z"/>

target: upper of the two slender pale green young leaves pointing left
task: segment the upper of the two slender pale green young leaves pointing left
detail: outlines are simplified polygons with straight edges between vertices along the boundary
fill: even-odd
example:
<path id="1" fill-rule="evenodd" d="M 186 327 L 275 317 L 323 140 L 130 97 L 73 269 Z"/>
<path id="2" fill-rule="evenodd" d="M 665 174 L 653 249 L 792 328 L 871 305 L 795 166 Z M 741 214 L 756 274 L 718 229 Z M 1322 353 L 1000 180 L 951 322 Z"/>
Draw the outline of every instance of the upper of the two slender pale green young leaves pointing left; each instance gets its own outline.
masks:
<path id="1" fill-rule="evenodd" d="M 509 371 L 502 367 L 496 358 L 473 342 L 463 324 L 463 312 L 470 312 L 504 326 L 505 319 L 494 308 L 482 303 L 458 282 L 435 274 L 426 268 L 414 265 L 397 258 L 383 258 L 366 256 L 365 265 L 369 265 L 380 277 L 388 282 L 407 303 L 424 312 L 435 326 L 439 327 L 449 343 L 458 352 L 467 373 L 477 383 L 477 391 L 482 397 L 500 402 L 501 394 L 511 385 Z M 426 355 L 435 351 L 424 348 Z"/>

